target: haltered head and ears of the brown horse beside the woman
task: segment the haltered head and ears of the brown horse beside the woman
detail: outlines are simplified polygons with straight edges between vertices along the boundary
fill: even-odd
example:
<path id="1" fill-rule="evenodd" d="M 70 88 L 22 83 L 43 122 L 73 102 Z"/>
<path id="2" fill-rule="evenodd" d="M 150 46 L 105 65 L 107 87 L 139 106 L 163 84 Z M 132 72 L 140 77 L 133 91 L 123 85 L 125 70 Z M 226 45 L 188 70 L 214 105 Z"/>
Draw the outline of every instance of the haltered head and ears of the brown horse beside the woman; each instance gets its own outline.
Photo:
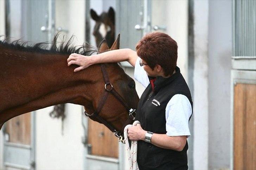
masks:
<path id="1" fill-rule="evenodd" d="M 98 53 L 119 49 L 119 47 L 120 34 L 110 49 L 104 39 L 100 43 Z M 92 120 L 105 124 L 110 130 L 113 131 L 114 128 L 122 132 L 123 128 L 133 121 L 129 117 L 129 110 L 136 109 L 139 102 L 135 82 L 117 63 L 105 63 L 101 66 L 101 70 L 103 76 L 95 86 L 97 89 L 94 89 L 98 93 L 94 93 L 91 105 L 84 106 L 85 113 Z"/>

